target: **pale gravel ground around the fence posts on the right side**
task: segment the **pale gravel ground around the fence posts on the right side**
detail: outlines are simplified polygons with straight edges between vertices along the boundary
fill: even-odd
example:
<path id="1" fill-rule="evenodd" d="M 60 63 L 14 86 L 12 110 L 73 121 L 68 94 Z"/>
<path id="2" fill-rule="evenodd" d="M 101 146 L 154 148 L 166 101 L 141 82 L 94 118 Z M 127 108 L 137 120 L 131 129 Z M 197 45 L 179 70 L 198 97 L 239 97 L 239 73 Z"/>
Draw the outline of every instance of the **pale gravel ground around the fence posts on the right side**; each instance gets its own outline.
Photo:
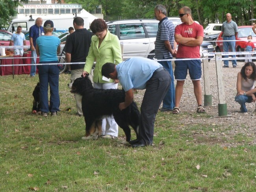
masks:
<path id="1" fill-rule="evenodd" d="M 219 100 L 215 60 L 212 59 L 209 62 L 209 78 L 211 82 L 210 85 L 213 106 L 205 108 L 206 113 L 209 114 L 210 118 L 209 116 L 206 117 L 205 115 L 201 116 L 196 114 L 197 102 L 193 92 L 193 84 L 189 78 L 189 75 L 187 76 L 180 102 L 181 113 L 179 115 L 182 116 L 180 119 L 182 126 L 176 127 L 176 129 L 186 129 L 183 125 L 192 126 L 197 124 L 206 124 L 206 126 L 209 125 L 209 127 L 211 127 L 208 131 L 192 131 L 195 143 L 220 144 L 223 147 L 236 147 L 245 143 L 249 145 L 256 144 L 256 113 L 254 113 L 255 103 L 247 103 L 248 112 L 239 113 L 240 105 L 234 101 L 234 97 L 236 96 L 237 73 L 241 70 L 244 62 L 237 62 L 237 68 L 232 68 L 231 61 L 229 61 L 229 65 L 229 68 L 221 68 L 223 71 L 223 84 L 228 117 L 218 116 Z M 201 85 L 203 95 L 202 103 L 204 104 L 203 74 Z M 135 94 L 134 100 L 139 105 L 141 104 L 143 95 L 143 90 L 138 90 L 138 94 Z M 199 137 L 200 139 L 198 140 Z M 237 139 L 234 139 L 234 137 L 241 137 L 242 139 L 238 139 L 239 141 L 237 141 Z"/>

